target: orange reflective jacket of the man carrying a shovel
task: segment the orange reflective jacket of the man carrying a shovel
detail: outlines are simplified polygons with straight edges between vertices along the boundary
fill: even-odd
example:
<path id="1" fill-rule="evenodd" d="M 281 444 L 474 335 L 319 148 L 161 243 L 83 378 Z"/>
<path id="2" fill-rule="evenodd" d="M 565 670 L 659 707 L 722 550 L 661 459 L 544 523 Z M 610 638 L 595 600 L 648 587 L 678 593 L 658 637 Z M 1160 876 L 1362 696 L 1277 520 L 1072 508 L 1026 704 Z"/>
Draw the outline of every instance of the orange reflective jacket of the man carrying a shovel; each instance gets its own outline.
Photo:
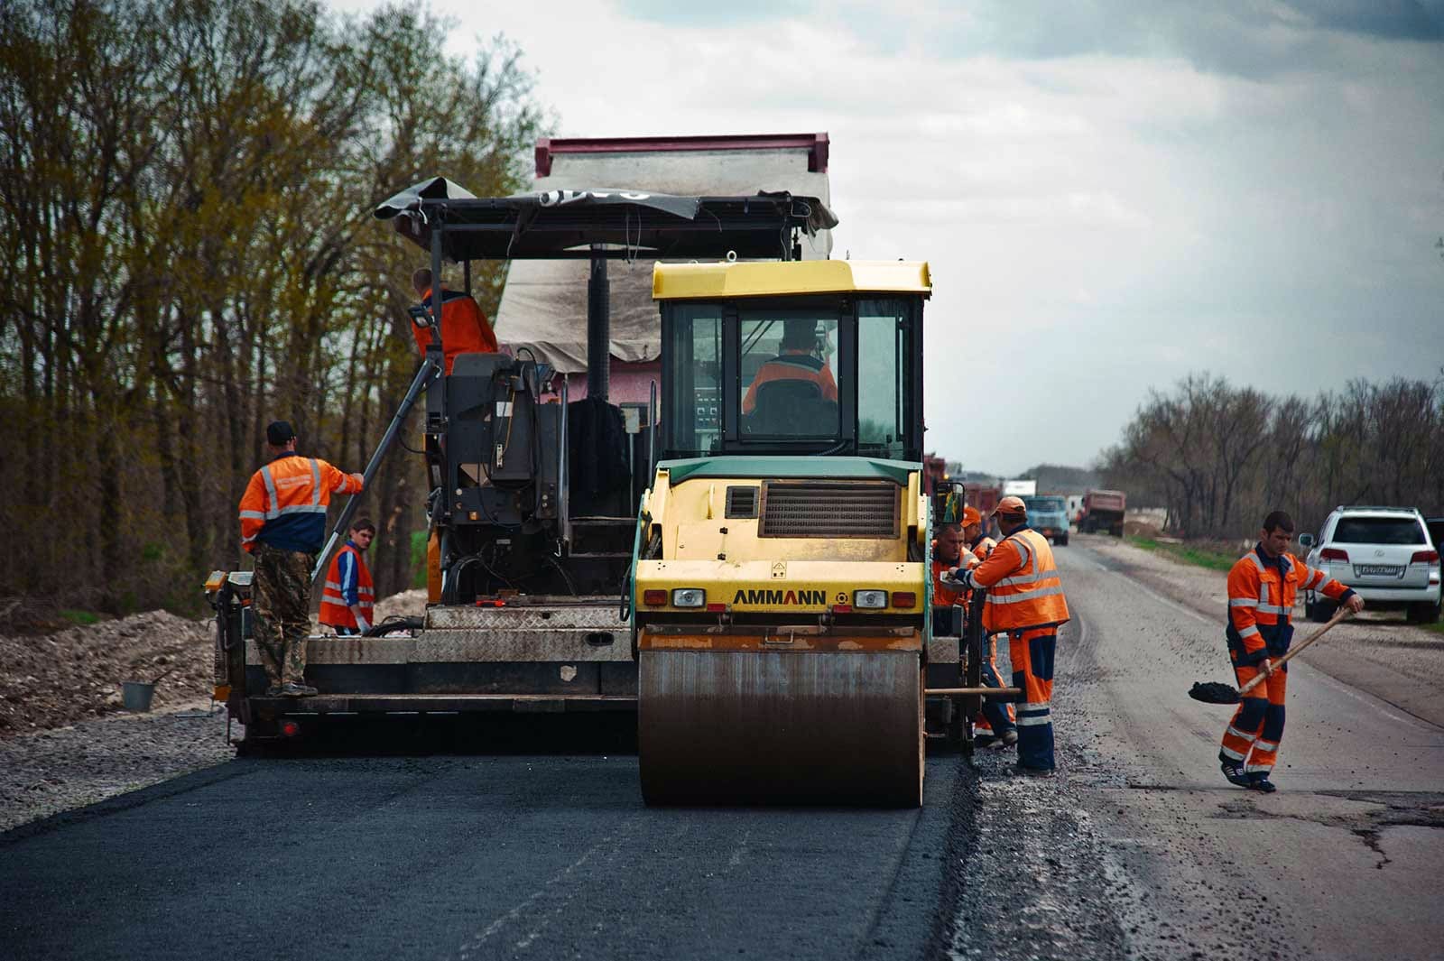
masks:
<path id="1" fill-rule="evenodd" d="M 1292 554 L 1269 557 L 1259 544 L 1229 571 L 1229 652 L 1236 664 L 1282 657 L 1294 638 L 1294 596 L 1317 590 L 1347 600 L 1353 590 Z"/>

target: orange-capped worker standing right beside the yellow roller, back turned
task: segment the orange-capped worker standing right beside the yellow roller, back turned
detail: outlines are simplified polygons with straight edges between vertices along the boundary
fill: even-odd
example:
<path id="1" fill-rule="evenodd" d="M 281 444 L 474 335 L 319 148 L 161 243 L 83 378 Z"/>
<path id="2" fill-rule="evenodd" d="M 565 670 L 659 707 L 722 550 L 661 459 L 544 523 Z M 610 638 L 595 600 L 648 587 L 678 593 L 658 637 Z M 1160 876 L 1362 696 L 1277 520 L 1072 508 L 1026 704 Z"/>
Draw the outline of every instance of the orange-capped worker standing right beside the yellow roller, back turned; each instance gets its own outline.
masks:
<path id="1" fill-rule="evenodd" d="M 1012 684 L 1018 700 L 1018 773 L 1051 775 L 1053 758 L 1053 655 L 1058 626 L 1069 620 L 1063 582 L 1053 563 L 1048 538 L 1028 527 L 1021 498 L 1006 496 L 993 511 L 1004 538 L 973 570 L 953 571 L 952 580 L 967 590 L 986 587 L 983 629 L 1008 632 Z"/>

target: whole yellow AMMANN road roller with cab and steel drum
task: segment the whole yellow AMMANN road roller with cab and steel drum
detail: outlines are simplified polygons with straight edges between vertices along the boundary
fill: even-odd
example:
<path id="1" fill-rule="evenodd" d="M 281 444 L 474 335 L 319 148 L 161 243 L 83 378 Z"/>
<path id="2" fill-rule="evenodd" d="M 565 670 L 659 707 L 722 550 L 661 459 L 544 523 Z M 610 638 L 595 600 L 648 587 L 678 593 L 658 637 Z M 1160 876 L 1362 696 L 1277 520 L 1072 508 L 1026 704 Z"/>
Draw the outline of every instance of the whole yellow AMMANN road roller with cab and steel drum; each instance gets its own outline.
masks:
<path id="1" fill-rule="evenodd" d="M 630 592 L 648 804 L 917 805 L 926 264 L 658 264 Z"/>

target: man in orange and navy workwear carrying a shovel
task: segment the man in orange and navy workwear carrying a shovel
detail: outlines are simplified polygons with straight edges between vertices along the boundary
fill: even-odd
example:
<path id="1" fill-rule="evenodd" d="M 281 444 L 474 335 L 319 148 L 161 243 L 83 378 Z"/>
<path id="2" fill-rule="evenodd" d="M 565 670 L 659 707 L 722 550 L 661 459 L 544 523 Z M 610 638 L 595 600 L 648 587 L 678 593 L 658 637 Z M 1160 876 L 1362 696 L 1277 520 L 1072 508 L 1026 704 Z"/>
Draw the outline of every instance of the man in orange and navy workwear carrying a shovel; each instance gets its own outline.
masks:
<path id="1" fill-rule="evenodd" d="M 1229 628 L 1225 633 L 1233 674 L 1242 687 L 1264 671 L 1268 680 L 1261 687 L 1268 688 L 1268 697 L 1243 697 L 1239 701 L 1233 720 L 1223 732 L 1219 762 L 1229 784 L 1264 794 L 1278 789 L 1268 776 L 1278 760 L 1278 742 L 1284 737 L 1288 665 L 1275 670 L 1272 661 L 1288 652 L 1294 638 L 1294 625 L 1289 623 L 1294 594 L 1301 587 L 1315 590 L 1354 613 L 1363 610 L 1363 597 L 1289 554 L 1292 540 L 1294 519 L 1274 511 L 1264 518 L 1258 545 L 1229 571 Z"/>

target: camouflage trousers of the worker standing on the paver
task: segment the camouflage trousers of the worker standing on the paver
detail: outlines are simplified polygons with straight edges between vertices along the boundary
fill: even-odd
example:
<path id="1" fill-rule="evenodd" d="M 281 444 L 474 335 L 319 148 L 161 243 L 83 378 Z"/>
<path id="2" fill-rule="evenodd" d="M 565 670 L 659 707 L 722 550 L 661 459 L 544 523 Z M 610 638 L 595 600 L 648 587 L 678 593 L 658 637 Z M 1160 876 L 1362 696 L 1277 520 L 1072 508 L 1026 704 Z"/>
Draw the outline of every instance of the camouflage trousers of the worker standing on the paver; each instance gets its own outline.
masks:
<path id="1" fill-rule="evenodd" d="M 258 543 L 253 551 L 251 636 L 271 687 L 303 684 L 310 633 L 310 569 L 315 554 Z"/>

